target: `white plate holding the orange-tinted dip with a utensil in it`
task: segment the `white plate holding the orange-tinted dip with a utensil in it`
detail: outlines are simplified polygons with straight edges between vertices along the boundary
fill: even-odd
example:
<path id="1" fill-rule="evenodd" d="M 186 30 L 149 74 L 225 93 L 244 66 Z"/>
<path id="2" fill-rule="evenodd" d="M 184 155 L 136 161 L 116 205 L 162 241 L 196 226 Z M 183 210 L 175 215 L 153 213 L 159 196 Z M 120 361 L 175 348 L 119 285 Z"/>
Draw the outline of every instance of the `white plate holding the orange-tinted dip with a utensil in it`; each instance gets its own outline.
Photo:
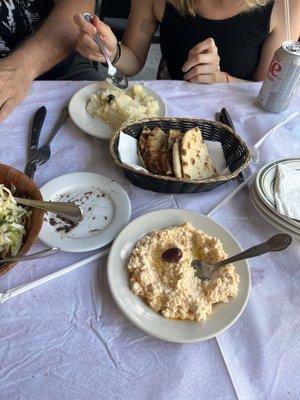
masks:
<path id="1" fill-rule="evenodd" d="M 229 328 L 242 314 L 249 297 L 250 271 L 247 261 L 235 263 L 240 275 L 237 297 L 214 306 L 213 314 L 204 323 L 164 318 L 151 310 L 129 287 L 126 268 L 135 243 L 147 232 L 190 221 L 197 229 L 221 240 L 229 256 L 242 251 L 234 237 L 212 219 L 188 210 L 154 211 L 132 221 L 114 241 L 108 257 L 108 283 L 117 305 L 137 327 L 146 333 L 176 343 L 206 340 Z"/>

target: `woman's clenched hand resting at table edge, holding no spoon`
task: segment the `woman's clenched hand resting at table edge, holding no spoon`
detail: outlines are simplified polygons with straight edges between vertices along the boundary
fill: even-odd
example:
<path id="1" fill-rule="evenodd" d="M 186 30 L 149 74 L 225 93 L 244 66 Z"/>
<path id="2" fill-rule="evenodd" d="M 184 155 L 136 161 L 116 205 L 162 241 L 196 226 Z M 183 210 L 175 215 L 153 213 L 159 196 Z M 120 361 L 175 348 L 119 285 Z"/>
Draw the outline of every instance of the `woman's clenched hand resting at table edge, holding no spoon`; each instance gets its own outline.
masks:
<path id="1" fill-rule="evenodd" d="M 184 80 L 191 83 L 225 83 L 226 74 L 220 71 L 218 48 L 212 38 L 198 43 L 189 51 L 182 67 Z"/>

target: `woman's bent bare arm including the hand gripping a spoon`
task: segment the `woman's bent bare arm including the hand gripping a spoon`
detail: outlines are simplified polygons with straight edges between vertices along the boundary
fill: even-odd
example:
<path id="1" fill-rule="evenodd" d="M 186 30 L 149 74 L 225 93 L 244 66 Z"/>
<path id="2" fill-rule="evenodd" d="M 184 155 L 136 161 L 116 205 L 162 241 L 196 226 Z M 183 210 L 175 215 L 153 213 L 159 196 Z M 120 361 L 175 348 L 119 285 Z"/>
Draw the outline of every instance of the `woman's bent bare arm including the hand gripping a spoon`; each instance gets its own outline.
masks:
<path id="1" fill-rule="evenodd" d="M 113 61 L 117 52 L 117 40 L 110 27 L 98 17 L 93 18 L 94 26 L 80 15 L 76 15 L 75 22 L 80 28 L 77 50 L 89 60 L 105 62 L 91 38 L 91 34 L 97 31 Z M 116 63 L 116 67 L 126 76 L 135 75 L 143 68 L 156 26 L 153 0 L 132 0 L 128 25 L 122 40 L 122 55 Z"/>

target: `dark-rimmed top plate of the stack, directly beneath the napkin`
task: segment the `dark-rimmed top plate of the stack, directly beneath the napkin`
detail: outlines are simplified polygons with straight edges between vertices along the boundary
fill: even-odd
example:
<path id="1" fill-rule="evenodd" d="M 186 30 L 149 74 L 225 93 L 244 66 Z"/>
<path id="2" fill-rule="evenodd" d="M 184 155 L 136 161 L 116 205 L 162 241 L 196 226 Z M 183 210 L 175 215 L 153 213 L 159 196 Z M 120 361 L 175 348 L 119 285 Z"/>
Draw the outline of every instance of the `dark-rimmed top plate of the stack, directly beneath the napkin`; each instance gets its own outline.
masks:
<path id="1" fill-rule="evenodd" d="M 276 209 L 274 190 L 278 164 L 284 164 L 289 166 L 290 168 L 300 170 L 300 158 L 284 158 L 272 161 L 271 163 L 265 165 L 256 175 L 256 194 L 258 195 L 260 200 L 269 208 L 269 210 L 275 213 L 281 220 L 284 220 L 289 225 L 293 225 L 294 227 L 300 229 L 300 221 L 289 218 L 288 216 L 278 212 Z"/>

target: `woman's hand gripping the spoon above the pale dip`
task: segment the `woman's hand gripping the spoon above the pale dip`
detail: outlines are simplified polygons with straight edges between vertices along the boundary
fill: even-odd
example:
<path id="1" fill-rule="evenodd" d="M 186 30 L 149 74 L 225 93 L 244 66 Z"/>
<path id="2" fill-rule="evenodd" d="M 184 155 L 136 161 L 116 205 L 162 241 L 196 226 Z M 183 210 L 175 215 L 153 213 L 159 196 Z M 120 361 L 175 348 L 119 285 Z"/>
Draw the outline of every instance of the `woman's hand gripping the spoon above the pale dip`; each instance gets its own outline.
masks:
<path id="1" fill-rule="evenodd" d="M 97 33 L 107 50 L 107 55 L 111 61 L 117 53 L 117 38 L 112 30 L 104 22 L 94 15 L 92 24 L 87 22 L 82 15 L 77 14 L 74 17 L 74 22 L 79 26 L 80 36 L 78 39 L 76 50 L 85 58 L 91 61 L 106 62 L 102 53 L 100 53 L 97 44 L 91 37 L 92 34 Z"/>

